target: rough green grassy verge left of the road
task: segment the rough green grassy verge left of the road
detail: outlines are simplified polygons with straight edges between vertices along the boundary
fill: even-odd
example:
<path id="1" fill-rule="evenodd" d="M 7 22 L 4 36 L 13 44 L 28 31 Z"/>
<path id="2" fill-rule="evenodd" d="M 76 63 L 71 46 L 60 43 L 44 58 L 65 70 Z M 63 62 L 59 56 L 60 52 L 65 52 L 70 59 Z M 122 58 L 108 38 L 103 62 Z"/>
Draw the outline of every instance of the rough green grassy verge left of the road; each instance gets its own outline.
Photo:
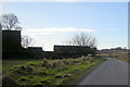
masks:
<path id="1" fill-rule="evenodd" d="M 77 58 L 64 60 L 3 61 L 3 86 L 37 85 L 51 87 L 68 85 L 105 59 Z"/>

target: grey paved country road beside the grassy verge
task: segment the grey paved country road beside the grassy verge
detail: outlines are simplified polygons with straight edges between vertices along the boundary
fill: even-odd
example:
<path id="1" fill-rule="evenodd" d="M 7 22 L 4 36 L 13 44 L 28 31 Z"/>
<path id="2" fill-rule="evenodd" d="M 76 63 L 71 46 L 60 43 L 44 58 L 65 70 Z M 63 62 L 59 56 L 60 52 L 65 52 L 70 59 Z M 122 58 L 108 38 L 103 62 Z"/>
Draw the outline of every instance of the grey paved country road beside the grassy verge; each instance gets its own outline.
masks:
<path id="1" fill-rule="evenodd" d="M 128 85 L 128 62 L 108 58 L 78 85 Z"/>

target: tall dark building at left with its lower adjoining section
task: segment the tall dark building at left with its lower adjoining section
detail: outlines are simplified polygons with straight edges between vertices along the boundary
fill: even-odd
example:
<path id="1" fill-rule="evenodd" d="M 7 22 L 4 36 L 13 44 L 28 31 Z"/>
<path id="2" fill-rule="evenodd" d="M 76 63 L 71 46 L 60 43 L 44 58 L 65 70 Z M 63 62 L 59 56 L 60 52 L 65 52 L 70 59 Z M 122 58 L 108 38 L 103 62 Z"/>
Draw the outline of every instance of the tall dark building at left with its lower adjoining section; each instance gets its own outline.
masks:
<path id="1" fill-rule="evenodd" d="M 40 47 L 22 48 L 21 30 L 2 30 L 3 59 L 42 58 L 42 53 L 43 51 Z"/>

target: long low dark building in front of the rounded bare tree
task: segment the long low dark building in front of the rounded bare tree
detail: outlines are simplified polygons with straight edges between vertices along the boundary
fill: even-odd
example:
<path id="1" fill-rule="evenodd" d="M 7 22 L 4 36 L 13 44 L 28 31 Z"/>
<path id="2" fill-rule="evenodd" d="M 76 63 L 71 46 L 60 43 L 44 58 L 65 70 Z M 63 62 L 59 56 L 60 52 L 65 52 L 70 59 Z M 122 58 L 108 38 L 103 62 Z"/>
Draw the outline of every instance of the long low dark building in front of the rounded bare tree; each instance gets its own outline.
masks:
<path id="1" fill-rule="evenodd" d="M 95 55 L 96 48 L 81 46 L 54 46 L 54 52 L 63 55 Z"/>

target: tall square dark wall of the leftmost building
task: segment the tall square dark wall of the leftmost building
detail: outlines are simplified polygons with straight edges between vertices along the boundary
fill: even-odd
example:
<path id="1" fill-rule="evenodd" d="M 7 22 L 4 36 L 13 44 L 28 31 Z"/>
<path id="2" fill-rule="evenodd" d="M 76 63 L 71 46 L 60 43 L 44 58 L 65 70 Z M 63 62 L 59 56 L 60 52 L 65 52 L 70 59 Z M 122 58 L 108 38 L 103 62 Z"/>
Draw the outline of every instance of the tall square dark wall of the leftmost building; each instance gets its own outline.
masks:
<path id="1" fill-rule="evenodd" d="M 21 48 L 21 30 L 2 30 L 3 51 L 14 51 Z"/>

